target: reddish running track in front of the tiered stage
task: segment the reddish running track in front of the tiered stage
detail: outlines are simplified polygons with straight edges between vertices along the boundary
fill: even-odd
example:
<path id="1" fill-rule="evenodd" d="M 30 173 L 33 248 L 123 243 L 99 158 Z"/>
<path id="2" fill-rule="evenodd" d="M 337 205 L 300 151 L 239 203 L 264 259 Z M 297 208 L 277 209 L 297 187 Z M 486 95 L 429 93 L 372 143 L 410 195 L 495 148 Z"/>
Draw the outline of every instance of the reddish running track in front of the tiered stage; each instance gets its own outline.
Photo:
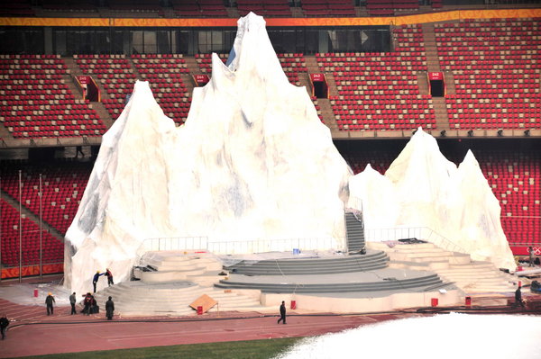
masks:
<path id="1" fill-rule="evenodd" d="M 1 342 L 0 357 L 309 337 L 415 315 L 296 316 L 296 312 L 289 311 L 288 324 L 279 325 L 278 314 L 265 316 L 256 312 L 221 312 L 179 319 L 115 317 L 107 321 L 103 313 L 69 315 L 69 307 L 57 307 L 54 315 L 47 316 L 44 306 L 24 306 L 5 300 L 0 300 L 0 311 L 12 320 Z"/>

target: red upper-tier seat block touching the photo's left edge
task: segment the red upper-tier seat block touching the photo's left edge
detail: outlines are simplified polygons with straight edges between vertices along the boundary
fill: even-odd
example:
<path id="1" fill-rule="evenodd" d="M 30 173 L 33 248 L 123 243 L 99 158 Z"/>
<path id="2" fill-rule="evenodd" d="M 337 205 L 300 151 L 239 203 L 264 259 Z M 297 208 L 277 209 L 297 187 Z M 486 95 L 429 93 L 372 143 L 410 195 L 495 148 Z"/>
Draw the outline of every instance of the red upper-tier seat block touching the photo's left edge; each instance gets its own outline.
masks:
<path id="1" fill-rule="evenodd" d="M 57 55 L 0 55 L 0 121 L 14 138 L 101 136 L 97 113 L 76 100 Z"/>

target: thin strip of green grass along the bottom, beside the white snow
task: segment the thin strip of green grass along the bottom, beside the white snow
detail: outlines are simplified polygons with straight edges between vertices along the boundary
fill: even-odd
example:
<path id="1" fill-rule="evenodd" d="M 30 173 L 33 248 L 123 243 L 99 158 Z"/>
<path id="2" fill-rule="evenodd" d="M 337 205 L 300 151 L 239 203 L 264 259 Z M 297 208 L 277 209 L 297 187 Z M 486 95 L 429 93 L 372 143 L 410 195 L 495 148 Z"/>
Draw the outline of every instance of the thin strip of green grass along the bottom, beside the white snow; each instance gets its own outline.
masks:
<path id="1" fill-rule="evenodd" d="M 137 349 L 101 350 L 96 352 L 25 356 L 43 359 L 114 359 L 114 358 L 205 358 L 268 359 L 280 354 L 301 338 L 244 340 L 239 342 L 187 344 L 184 346 L 151 346 Z"/>

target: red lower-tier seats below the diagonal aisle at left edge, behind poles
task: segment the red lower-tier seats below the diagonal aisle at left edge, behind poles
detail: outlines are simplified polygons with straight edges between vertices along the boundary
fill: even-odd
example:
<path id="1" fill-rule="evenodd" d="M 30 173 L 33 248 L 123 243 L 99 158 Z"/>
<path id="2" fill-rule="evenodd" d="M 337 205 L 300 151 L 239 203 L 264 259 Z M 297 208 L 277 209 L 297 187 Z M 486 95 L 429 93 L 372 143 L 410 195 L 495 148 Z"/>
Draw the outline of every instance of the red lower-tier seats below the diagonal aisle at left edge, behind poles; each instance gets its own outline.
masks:
<path id="1" fill-rule="evenodd" d="M 19 211 L 3 199 L 2 206 L 2 265 L 19 265 Z M 40 227 L 32 220 L 22 219 L 22 265 L 40 263 Z M 64 245 L 46 230 L 41 232 L 42 263 L 62 263 Z"/>

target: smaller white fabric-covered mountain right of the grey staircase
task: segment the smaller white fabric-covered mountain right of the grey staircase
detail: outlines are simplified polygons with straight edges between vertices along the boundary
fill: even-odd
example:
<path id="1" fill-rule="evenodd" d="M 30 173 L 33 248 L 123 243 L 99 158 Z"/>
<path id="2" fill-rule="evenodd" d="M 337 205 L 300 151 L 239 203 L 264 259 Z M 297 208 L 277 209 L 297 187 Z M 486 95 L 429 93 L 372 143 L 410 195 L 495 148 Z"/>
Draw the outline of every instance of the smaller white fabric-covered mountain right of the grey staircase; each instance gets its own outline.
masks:
<path id="1" fill-rule="evenodd" d="M 515 268 L 500 203 L 471 151 L 457 168 L 419 128 L 385 175 L 369 165 L 350 179 L 349 189 L 348 207 L 363 210 L 371 240 L 389 239 L 378 237 L 378 229 L 429 229 L 436 245 Z"/>

